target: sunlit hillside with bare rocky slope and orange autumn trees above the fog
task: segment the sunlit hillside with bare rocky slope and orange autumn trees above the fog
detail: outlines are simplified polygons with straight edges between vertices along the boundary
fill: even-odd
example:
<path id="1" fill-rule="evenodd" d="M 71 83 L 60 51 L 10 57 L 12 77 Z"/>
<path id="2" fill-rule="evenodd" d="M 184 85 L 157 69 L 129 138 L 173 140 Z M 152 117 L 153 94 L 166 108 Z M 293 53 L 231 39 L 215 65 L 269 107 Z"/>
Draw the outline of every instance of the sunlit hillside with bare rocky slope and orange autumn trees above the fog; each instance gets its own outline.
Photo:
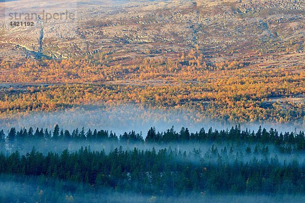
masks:
<path id="1" fill-rule="evenodd" d="M 31 11 L 23 2 L 5 8 Z M 54 2 L 35 8 L 76 19 L 1 34 L 2 117 L 136 104 L 196 121 L 304 120 L 301 1 Z"/>

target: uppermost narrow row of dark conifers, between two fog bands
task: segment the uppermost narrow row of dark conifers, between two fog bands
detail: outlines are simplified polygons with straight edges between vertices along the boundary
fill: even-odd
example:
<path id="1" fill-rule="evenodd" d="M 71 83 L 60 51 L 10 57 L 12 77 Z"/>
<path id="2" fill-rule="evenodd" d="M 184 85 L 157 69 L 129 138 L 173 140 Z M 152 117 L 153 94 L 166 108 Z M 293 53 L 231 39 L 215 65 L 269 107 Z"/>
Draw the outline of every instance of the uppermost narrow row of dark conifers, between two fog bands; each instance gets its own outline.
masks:
<path id="1" fill-rule="evenodd" d="M 146 137 L 142 135 L 142 132 L 136 133 L 134 130 L 120 134 L 108 130 L 91 129 L 85 130 L 74 129 L 70 132 L 68 129 L 60 129 L 58 125 L 55 125 L 54 129 L 48 130 L 47 128 L 36 128 L 34 130 L 30 127 L 28 130 L 22 128 L 16 130 L 12 127 L 6 135 L 4 130 L 0 130 L 0 140 L 7 142 L 14 142 L 16 140 L 28 140 L 28 139 L 52 139 L 52 140 L 107 140 L 114 142 L 141 142 L 141 143 L 186 143 L 186 142 L 239 142 L 239 143 L 263 143 L 274 144 L 279 147 L 282 152 L 285 151 L 304 151 L 305 150 L 305 136 L 303 131 L 297 132 L 279 132 L 277 129 L 270 128 L 267 130 L 261 126 L 255 132 L 254 130 L 241 130 L 240 126 L 232 127 L 231 129 L 212 130 L 209 128 L 207 131 L 201 128 L 199 131 L 190 132 L 188 128 L 182 127 L 180 131 L 175 131 L 172 126 L 165 131 L 157 131 L 155 127 L 151 127 L 146 134 Z"/>

